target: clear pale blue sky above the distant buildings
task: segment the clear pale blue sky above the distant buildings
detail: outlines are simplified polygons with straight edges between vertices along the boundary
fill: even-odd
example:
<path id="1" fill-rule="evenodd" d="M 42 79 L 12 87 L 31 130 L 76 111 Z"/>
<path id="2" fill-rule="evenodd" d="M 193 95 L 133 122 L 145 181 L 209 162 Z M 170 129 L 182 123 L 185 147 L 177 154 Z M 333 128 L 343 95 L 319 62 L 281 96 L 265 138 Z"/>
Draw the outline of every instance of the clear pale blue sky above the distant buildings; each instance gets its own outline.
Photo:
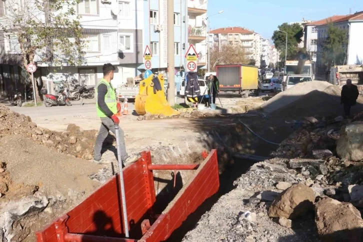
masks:
<path id="1" fill-rule="evenodd" d="M 270 39 L 283 22 L 320 20 L 363 11 L 363 0 L 208 0 L 210 28 L 241 26 Z"/>

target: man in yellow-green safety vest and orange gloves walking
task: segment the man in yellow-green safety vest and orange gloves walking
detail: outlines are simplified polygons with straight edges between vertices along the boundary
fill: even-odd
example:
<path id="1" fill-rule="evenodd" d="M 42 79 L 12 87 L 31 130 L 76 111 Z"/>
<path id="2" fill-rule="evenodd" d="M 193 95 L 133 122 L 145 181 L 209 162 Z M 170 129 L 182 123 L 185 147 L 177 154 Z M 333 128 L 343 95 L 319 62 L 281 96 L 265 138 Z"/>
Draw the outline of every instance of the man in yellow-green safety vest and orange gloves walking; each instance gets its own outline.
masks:
<path id="1" fill-rule="evenodd" d="M 93 161 L 98 164 L 106 164 L 111 162 L 101 160 L 102 143 L 107 137 L 109 130 L 115 134 L 114 125 L 118 125 L 119 123 L 119 119 L 115 113 L 121 109 L 120 103 L 117 103 L 116 101 L 115 90 L 111 85 L 115 67 L 111 63 L 106 63 L 103 65 L 102 70 L 103 78 L 99 81 L 95 90 L 97 116 L 100 117 L 102 122 L 94 145 L 93 155 Z M 122 164 L 135 161 L 136 159 L 134 157 L 127 155 L 124 134 L 121 128 L 118 129 L 118 134 L 120 147 L 119 152 L 121 153 Z"/>

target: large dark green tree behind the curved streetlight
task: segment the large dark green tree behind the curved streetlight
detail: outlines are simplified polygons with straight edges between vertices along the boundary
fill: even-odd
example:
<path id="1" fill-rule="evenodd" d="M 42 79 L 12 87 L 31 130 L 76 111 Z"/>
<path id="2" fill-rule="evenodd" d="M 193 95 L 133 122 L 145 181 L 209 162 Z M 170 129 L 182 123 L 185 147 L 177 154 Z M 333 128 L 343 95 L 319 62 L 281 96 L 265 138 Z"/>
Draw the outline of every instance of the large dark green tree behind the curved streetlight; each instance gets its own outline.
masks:
<path id="1" fill-rule="evenodd" d="M 279 30 L 287 32 L 287 59 L 295 59 L 301 49 L 298 44 L 303 36 L 303 29 L 298 23 L 288 24 L 287 22 L 278 25 Z M 273 31 L 272 40 L 277 50 L 280 51 L 280 58 L 285 59 L 286 33 Z"/>

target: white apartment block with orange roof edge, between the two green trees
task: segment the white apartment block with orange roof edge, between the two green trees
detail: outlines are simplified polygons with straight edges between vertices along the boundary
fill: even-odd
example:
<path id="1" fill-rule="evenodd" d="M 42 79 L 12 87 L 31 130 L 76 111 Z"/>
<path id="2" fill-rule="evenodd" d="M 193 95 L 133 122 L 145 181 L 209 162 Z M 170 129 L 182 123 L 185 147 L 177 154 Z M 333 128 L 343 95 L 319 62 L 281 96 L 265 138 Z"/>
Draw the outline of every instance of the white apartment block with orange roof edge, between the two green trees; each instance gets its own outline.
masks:
<path id="1" fill-rule="evenodd" d="M 346 15 L 334 15 L 318 21 L 313 21 L 305 24 L 304 26 L 304 48 L 310 55 L 311 61 L 316 61 L 317 52 L 317 27 L 327 22 L 336 21 L 339 18 L 345 17 Z"/>

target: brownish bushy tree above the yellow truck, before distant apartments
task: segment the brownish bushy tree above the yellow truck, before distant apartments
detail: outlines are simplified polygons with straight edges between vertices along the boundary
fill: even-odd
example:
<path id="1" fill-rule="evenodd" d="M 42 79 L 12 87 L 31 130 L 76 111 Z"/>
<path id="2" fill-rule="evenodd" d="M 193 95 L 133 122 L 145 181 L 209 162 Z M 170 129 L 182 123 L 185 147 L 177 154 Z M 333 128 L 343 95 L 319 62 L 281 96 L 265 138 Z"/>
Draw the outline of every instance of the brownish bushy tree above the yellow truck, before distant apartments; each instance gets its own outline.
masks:
<path id="1" fill-rule="evenodd" d="M 210 48 L 210 69 L 215 71 L 217 64 L 248 64 L 249 53 L 243 46 L 222 44 Z"/>

